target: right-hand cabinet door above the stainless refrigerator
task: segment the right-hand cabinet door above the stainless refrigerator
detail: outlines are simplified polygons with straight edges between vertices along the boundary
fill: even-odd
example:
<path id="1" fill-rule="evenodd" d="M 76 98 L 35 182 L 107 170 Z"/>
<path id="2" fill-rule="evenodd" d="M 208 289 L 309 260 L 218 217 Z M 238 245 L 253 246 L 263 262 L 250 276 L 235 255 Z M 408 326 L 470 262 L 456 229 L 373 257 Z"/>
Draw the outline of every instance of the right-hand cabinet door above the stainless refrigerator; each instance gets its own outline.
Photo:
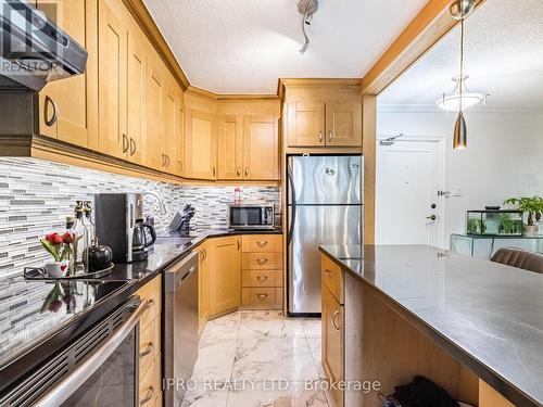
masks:
<path id="1" fill-rule="evenodd" d="M 362 104 L 326 104 L 326 145 L 362 145 Z"/>

